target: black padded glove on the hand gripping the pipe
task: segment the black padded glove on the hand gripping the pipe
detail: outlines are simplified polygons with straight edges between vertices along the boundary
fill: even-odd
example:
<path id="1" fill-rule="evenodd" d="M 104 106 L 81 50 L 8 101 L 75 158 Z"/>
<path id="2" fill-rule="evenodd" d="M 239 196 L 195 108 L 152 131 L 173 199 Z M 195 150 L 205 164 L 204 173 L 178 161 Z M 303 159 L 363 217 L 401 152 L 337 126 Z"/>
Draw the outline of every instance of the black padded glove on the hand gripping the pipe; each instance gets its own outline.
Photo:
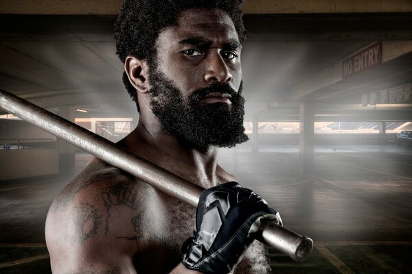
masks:
<path id="1" fill-rule="evenodd" d="M 230 273 L 253 242 L 262 219 L 282 225 L 279 213 L 252 190 L 228 182 L 202 192 L 194 236 L 183 244 L 187 269 Z"/>

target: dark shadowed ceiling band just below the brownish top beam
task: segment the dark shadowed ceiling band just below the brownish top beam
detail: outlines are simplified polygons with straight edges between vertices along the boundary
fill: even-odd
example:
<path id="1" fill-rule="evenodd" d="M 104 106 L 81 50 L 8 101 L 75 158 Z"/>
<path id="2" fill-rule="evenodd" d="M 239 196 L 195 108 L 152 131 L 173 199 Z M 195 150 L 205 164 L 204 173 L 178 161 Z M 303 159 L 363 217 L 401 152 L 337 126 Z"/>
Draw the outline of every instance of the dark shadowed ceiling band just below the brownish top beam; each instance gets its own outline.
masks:
<path id="1" fill-rule="evenodd" d="M 1 5 L 1 1 L 0 1 Z M 113 15 L 0 16 L 0 41 L 115 42 Z M 247 41 L 411 40 L 412 13 L 245 14 Z"/>

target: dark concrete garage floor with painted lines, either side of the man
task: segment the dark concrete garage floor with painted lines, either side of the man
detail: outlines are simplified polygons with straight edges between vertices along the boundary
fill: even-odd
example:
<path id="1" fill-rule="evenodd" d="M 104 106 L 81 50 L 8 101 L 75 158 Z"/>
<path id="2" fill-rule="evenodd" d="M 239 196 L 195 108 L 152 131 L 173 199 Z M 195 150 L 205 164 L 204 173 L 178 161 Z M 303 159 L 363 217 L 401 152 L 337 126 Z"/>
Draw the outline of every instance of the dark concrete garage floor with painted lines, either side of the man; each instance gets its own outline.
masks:
<path id="1" fill-rule="evenodd" d="M 273 273 L 410 273 L 412 153 L 396 145 L 317 147 L 315 175 L 299 173 L 298 147 L 223 149 L 220 164 L 310 236 L 298 264 L 269 249 Z M 77 170 L 89 155 L 77 155 Z M 50 273 L 47 209 L 69 177 L 0 182 L 0 273 Z"/>

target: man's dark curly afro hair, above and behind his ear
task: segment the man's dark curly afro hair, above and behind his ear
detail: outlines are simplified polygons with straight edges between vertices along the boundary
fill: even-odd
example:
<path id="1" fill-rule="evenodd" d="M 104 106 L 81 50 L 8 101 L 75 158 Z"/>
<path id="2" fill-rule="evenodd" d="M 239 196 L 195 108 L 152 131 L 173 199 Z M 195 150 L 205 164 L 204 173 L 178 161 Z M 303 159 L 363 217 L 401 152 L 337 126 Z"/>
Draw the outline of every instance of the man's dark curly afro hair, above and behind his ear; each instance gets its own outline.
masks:
<path id="1" fill-rule="evenodd" d="M 133 55 L 149 64 L 155 60 L 155 42 L 161 29 L 174 25 L 177 16 L 190 8 L 216 8 L 226 12 L 232 19 L 241 43 L 246 31 L 242 21 L 244 0 L 125 0 L 115 22 L 117 55 L 125 62 Z M 137 104 L 136 89 L 130 84 L 126 73 L 123 83 L 130 97 Z"/>

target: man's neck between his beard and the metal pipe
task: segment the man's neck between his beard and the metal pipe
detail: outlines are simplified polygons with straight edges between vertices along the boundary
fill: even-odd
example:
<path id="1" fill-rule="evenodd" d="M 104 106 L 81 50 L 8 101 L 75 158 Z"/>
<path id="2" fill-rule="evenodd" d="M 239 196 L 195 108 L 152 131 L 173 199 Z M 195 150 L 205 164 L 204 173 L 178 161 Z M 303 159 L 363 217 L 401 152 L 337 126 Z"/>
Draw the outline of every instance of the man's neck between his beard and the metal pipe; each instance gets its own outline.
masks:
<path id="1" fill-rule="evenodd" d="M 228 180 L 217 164 L 217 147 L 200 151 L 153 124 L 150 127 L 139 121 L 119 145 L 204 188 Z"/>

